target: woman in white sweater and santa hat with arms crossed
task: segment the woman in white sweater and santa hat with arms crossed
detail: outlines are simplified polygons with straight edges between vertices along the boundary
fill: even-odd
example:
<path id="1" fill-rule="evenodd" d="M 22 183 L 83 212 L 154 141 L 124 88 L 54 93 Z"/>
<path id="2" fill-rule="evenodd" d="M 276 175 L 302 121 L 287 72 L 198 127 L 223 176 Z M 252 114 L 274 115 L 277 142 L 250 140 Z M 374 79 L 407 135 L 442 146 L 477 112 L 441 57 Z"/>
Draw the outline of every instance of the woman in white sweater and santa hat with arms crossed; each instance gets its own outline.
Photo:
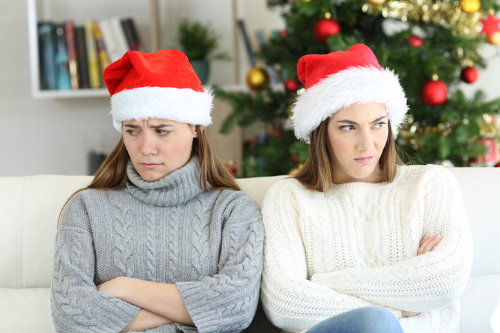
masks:
<path id="1" fill-rule="evenodd" d="M 398 77 L 362 44 L 302 57 L 298 75 L 306 90 L 292 120 L 310 149 L 262 205 L 268 318 L 288 332 L 321 322 L 340 332 L 338 314 L 378 307 L 404 332 L 458 331 L 470 230 L 448 170 L 398 159 L 391 125 L 407 111 Z"/>

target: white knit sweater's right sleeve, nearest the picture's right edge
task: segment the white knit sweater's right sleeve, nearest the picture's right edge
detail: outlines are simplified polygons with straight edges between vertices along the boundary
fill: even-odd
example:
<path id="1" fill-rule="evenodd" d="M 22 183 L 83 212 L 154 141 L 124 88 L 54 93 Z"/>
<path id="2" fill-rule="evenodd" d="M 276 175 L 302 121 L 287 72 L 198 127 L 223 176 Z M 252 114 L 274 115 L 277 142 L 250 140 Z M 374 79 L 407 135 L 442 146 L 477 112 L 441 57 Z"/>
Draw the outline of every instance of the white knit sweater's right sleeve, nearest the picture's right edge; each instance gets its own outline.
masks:
<path id="1" fill-rule="evenodd" d="M 448 170 L 433 167 L 423 186 L 423 233 L 443 236 L 434 251 L 393 265 L 317 273 L 311 281 L 414 312 L 436 310 L 459 299 L 472 265 L 472 236 L 459 185 Z"/>

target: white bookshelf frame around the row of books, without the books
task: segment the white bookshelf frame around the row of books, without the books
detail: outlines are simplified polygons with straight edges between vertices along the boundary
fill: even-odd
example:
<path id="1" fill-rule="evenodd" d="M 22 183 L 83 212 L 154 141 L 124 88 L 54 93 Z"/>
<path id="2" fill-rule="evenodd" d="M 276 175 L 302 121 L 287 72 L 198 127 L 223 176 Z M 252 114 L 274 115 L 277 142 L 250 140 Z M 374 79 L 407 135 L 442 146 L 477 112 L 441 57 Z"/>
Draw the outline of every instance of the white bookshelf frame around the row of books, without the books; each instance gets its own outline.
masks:
<path id="1" fill-rule="evenodd" d="M 39 41 L 37 23 L 39 21 L 64 21 L 74 19 L 75 24 L 83 24 L 84 19 L 105 19 L 108 17 L 134 17 L 146 22 L 149 33 L 142 39 L 148 41 L 148 52 L 158 49 L 158 0 L 27 0 L 28 42 L 30 52 L 30 77 L 32 97 L 39 99 L 68 99 L 88 97 L 108 97 L 106 88 L 85 88 L 78 90 L 44 90 L 40 87 Z M 146 37 L 146 38 L 145 38 Z"/>

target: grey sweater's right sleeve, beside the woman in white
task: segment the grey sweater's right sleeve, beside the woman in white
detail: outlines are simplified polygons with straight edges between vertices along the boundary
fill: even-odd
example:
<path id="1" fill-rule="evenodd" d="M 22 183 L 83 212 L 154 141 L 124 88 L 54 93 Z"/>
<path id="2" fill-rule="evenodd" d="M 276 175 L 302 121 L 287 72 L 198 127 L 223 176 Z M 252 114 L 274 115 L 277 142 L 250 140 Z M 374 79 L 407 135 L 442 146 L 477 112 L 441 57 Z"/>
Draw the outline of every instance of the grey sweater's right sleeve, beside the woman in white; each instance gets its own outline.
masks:
<path id="1" fill-rule="evenodd" d="M 225 192 L 213 208 L 213 219 L 222 222 L 218 274 L 177 282 L 199 332 L 241 331 L 257 309 L 263 241 L 260 210 L 247 194 Z"/>

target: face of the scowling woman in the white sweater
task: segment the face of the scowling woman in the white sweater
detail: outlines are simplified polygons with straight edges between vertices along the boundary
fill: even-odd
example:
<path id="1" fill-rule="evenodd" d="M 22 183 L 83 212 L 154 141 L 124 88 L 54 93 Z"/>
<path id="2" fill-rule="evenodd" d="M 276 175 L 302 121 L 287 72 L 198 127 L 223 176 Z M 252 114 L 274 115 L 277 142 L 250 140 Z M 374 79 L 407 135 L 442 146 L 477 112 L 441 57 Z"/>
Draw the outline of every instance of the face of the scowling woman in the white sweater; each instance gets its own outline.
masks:
<path id="1" fill-rule="evenodd" d="M 387 142 L 387 112 L 381 103 L 353 104 L 328 121 L 328 152 L 332 181 L 378 183 L 378 161 Z"/>

